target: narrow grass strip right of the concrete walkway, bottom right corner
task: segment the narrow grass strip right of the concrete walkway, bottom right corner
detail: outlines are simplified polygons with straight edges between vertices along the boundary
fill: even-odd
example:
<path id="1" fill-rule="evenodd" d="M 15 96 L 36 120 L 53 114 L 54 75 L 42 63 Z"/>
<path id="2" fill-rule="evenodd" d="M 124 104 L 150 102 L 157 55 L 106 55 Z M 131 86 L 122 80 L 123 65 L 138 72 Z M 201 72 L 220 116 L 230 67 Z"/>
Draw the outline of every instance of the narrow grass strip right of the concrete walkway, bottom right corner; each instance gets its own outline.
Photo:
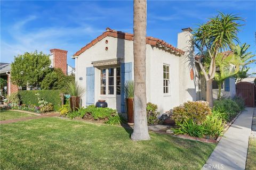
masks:
<path id="1" fill-rule="evenodd" d="M 245 169 L 256 170 L 256 138 L 250 138 L 249 140 L 249 149 Z"/>

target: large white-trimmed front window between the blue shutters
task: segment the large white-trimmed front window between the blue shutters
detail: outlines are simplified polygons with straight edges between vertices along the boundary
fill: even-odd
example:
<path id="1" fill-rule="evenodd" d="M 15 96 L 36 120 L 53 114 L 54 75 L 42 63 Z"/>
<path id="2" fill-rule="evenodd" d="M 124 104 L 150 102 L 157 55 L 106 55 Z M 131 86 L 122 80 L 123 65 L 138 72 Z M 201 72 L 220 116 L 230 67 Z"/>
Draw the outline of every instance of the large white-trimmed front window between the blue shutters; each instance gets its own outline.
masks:
<path id="1" fill-rule="evenodd" d="M 120 67 L 100 70 L 100 95 L 121 95 Z"/>

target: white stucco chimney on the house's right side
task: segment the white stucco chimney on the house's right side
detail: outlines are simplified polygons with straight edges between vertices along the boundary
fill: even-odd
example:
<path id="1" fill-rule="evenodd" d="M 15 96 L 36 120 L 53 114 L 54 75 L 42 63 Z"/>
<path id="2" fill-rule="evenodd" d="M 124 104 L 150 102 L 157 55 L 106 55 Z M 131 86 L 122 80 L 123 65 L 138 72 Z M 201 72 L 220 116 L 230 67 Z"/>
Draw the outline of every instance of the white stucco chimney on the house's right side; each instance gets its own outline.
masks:
<path id="1" fill-rule="evenodd" d="M 195 81 L 195 60 L 193 35 L 191 28 L 184 28 L 178 33 L 177 47 L 185 52 L 180 57 L 179 65 L 179 84 L 180 84 L 180 103 L 196 100 L 196 81 Z"/>

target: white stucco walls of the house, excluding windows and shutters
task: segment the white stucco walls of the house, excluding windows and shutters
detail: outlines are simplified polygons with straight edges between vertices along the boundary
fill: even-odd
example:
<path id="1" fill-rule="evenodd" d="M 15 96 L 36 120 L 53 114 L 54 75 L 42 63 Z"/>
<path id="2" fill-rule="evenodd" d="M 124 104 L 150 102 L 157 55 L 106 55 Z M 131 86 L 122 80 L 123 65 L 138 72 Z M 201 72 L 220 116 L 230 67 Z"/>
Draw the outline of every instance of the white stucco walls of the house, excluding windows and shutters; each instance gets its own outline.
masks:
<path id="1" fill-rule="evenodd" d="M 108 40 L 108 44 L 105 41 Z M 181 39 L 182 40 L 182 39 Z M 185 45 L 186 46 L 186 45 Z M 108 47 L 108 50 L 105 50 Z M 133 63 L 133 41 L 124 40 L 113 37 L 105 37 L 91 48 L 85 50 L 76 59 L 76 80 L 81 86 L 86 88 L 86 67 L 91 67 L 93 61 L 110 60 L 114 58 L 124 58 L 123 62 Z M 184 60 L 182 60 L 184 62 Z M 147 44 L 146 50 L 146 92 L 147 102 L 151 102 L 158 105 L 158 111 L 162 114 L 165 111 L 180 105 L 180 89 L 183 90 L 183 100 L 193 100 L 196 98 L 196 92 L 193 92 L 191 96 L 190 89 L 195 91 L 194 80 L 190 80 L 189 67 L 186 69 L 180 69 L 182 63 L 179 56 L 175 56 L 166 50 L 160 49 L 155 46 Z M 134 63 L 133 63 L 134 64 Z M 163 93 L 163 64 L 170 66 L 170 93 Z M 182 67 L 185 66 L 182 63 Z M 182 74 L 179 71 L 182 70 Z M 185 77 L 181 77 L 185 76 Z M 81 79 L 82 80 L 79 80 Z M 133 75 L 134 78 L 134 75 Z M 182 86 L 180 85 L 182 80 Z M 95 92 L 94 103 L 98 99 L 106 99 L 110 108 L 116 108 L 118 112 L 121 112 L 121 98 L 106 97 L 100 94 L 100 70 L 95 68 Z M 85 106 L 86 94 L 82 97 Z M 182 100 L 182 101 L 183 101 Z"/>

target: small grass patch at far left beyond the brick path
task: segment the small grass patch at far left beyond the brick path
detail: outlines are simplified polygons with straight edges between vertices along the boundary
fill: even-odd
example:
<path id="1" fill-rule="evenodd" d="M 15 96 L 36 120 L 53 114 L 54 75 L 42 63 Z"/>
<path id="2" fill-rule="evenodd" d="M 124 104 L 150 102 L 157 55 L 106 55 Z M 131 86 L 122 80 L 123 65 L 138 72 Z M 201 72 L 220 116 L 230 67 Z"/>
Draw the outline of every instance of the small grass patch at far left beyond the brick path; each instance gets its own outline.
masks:
<path id="1" fill-rule="evenodd" d="M 36 115 L 22 113 L 17 111 L 0 111 L 0 121 L 15 119 L 15 118 L 23 118 L 23 117 L 34 117 Z"/>

